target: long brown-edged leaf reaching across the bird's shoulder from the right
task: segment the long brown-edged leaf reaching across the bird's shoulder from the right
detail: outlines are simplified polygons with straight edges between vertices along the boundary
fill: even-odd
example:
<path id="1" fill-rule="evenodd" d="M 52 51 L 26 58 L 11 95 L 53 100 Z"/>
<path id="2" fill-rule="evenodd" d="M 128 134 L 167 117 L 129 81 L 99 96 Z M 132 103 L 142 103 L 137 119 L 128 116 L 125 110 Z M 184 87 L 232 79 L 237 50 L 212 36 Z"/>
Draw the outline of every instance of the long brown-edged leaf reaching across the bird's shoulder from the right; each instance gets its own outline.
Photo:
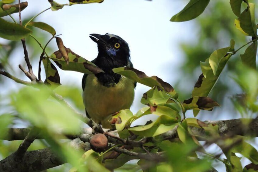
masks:
<path id="1" fill-rule="evenodd" d="M 165 90 L 169 95 L 171 95 L 172 98 L 177 99 L 178 97 L 178 93 L 176 93 L 174 88 L 169 83 L 164 82 L 157 76 L 149 77 L 144 72 L 129 67 L 114 68 L 113 72 L 126 76 L 127 78 L 133 81 L 139 82 L 149 87 L 159 86 L 163 90 Z"/>

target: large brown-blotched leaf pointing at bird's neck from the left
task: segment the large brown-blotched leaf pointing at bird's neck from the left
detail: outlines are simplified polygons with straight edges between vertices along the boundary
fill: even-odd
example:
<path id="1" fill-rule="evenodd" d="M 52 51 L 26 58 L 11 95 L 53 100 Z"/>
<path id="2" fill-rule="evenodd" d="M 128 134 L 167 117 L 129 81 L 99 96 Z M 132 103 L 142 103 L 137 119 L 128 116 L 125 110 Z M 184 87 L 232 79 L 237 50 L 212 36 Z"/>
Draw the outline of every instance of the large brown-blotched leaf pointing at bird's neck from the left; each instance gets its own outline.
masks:
<path id="1" fill-rule="evenodd" d="M 59 68 L 62 70 L 71 70 L 86 74 L 96 74 L 103 72 L 100 68 L 98 68 L 95 64 L 92 62 L 82 58 L 78 54 L 75 54 L 73 51 L 70 50 L 70 48 L 65 47 L 66 54 L 68 54 L 68 62 L 69 65 L 67 65 L 67 62 L 63 58 L 63 55 L 58 50 L 51 54 L 50 58 L 58 65 Z"/>

